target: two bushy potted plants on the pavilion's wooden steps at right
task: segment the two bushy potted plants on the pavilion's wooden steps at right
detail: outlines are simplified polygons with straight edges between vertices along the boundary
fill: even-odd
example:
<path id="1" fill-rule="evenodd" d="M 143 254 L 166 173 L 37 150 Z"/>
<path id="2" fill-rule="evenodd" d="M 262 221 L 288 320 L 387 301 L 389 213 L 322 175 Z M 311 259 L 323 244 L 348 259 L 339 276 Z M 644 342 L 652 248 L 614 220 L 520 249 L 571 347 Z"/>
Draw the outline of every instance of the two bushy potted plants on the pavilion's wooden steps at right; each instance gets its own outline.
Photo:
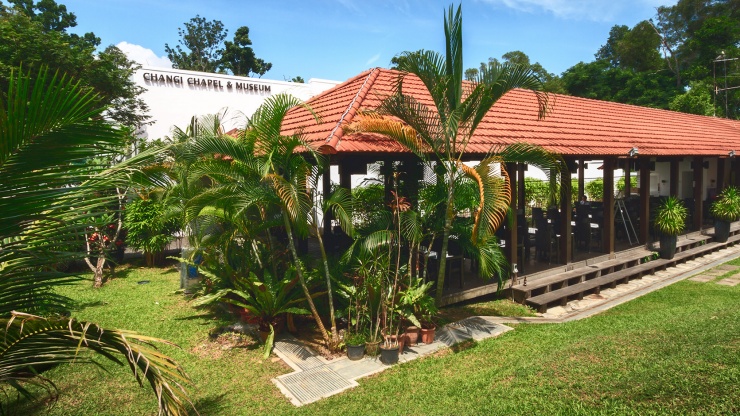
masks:
<path id="1" fill-rule="evenodd" d="M 740 219 L 740 190 L 725 188 L 712 202 L 710 213 L 714 217 L 714 239 L 724 243 L 730 235 L 730 223 Z M 678 235 L 686 228 L 688 209 L 675 196 L 665 199 L 656 211 L 655 227 L 660 233 L 660 255 L 672 259 L 676 253 Z"/>

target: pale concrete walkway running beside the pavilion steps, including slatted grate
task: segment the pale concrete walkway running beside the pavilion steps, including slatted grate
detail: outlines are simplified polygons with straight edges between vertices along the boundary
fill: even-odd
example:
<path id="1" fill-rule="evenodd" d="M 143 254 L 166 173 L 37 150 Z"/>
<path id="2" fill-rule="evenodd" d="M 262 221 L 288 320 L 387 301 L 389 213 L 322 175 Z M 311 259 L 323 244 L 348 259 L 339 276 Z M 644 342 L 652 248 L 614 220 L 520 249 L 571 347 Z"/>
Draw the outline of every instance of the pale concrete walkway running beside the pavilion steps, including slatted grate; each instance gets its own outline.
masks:
<path id="1" fill-rule="evenodd" d="M 740 245 L 727 247 L 699 259 L 644 276 L 642 279 L 618 285 L 614 289 L 602 290 L 599 294 L 570 302 L 565 307 L 550 308 L 547 313 L 538 317 L 466 318 L 438 329 L 433 343 L 420 343 L 406 348 L 399 357 L 399 363 L 432 354 L 463 341 L 471 339 L 479 341 L 513 329 L 506 324 L 561 323 L 584 319 L 687 278 L 697 282 L 735 286 L 740 284 L 740 267 L 723 263 L 738 257 Z M 720 276 L 732 272 L 735 274 L 719 279 Z M 276 340 L 274 352 L 295 371 L 276 377 L 272 381 L 296 406 L 315 402 L 355 387 L 358 385 L 358 379 L 390 367 L 381 363 L 379 357 L 366 356 L 359 361 L 350 361 L 344 357 L 328 361 L 291 336 L 283 336 Z"/>

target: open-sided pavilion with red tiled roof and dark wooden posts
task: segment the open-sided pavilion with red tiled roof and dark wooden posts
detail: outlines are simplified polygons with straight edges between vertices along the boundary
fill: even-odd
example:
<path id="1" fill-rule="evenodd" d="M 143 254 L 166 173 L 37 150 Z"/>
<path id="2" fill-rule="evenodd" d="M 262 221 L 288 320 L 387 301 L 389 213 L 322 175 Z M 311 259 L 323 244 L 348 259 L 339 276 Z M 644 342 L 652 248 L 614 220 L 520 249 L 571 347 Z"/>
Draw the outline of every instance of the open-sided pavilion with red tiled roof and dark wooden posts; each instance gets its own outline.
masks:
<path id="1" fill-rule="evenodd" d="M 341 186 L 349 188 L 351 175 L 365 174 L 368 164 L 378 161 L 400 162 L 409 178 L 419 178 L 422 169 L 418 158 L 395 141 L 379 134 L 345 134 L 343 130 L 359 111 L 373 110 L 391 95 L 399 75 L 381 68 L 363 72 L 309 100 L 322 118 L 321 124 L 316 124 L 308 112 L 295 110 L 286 118 L 283 131 L 301 129 L 305 138 L 338 166 Z M 403 88 L 404 93 L 433 106 L 418 78 L 406 76 Z M 737 186 L 740 181 L 740 162 L 734 156 L 740 150 L 738 121 L 557 94 L 550 95 L 550 103 L 551 111 L 538 119 L 535 95 L 525 90 L 510 91 L 479 125 L 464 156 L 468 161 L 481 160 L 493 146 L 526 142 L 562 155 L 568 168 L 562 173 L 563 183 L 570 183 L 572 174 L 578 175 L 577 189 L 564 187 L 559 209 L 550 210 L 549 222 L 559 224 L 559 229 L 543 249 L 530 237 L 537 224 L 523 215 L 527 166 L 507 166 L 507 171 L 516 172 L 511 175 L 512 189 L 517 190 L 512 212 L 519 215 L 511 219 L 503 237 L 508 260 L 518 265 L 518 270 L 513 270 L 518 271 L 515 277 L 547 268 L 569 271 L 583 259 L 616 259 L 622 249 L 651 248 L 655 240 L 649 220 L 651 205 L 660 197 L 673 195 L 684 200 L 690 212 L 688 231 L 706 231 L 712 227 L 709 202 L 724 187 Z M 601 165 L 605 190 L 614 189 L 617 168 L 628 177 L 636 176 L 638 186 L 630 189 L 630 180 L 626 180 L 626 198 L 615 199 L 612 192 L 604 192 L 598 214 L 588 213 L 591 219 L 583 221 L 586 212 L 581 211 L 579 222 L 574 218 L 570 193 L 577 192 L 579 199 L 584 194 L 584 166 L 588 163 Z M 324 192 L 330 186 L 329 175 L 325 174 Z M 578 213 L 576 210 L 576 217 Z M 326 220 L 328 224 L 330 219 Z M 585 229 L 579 229 L 581 225 Z M 330 237 L 331 227 L 324 227 L 324 232 Z M 621 243 L 623 239 L 627 242 Z M 532 248 L 534 255 L 530 253 Z M 474 273 L 463 276 L 463 268 L 461 265 L 459 285 L 450 284 L 448 302 L 495 290 L 469 291 L 471 286 L 490 286 L 490 281 L 476 280 L 470 276 Z M 459 296 L 462 292 L 469 295 Z"/>

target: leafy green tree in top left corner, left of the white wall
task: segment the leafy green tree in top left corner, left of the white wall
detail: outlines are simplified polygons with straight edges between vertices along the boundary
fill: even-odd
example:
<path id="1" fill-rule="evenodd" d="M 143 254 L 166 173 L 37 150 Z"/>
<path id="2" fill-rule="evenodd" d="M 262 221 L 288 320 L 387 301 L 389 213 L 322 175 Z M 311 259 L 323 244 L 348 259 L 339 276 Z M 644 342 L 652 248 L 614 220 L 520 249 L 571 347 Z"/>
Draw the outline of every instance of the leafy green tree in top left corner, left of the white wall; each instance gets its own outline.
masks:
<path id="1" fill-rule="evenodd" d="M 132 78 L 138 65 L 120 49 L 97 52 L 100 39 L 93 33 L 67 33 L 77 25 L 74 13 L 54 0 L 13 0 L 0 4 L 0 88 L 8 88 L 13 68 L 38 73 L 41 65 L 74 74 L 83 87 L 98 93 L 108 105 L 106 116 L 124 126 L 148 121 L 148 107 L 140 98 L 143 88 Z"/>

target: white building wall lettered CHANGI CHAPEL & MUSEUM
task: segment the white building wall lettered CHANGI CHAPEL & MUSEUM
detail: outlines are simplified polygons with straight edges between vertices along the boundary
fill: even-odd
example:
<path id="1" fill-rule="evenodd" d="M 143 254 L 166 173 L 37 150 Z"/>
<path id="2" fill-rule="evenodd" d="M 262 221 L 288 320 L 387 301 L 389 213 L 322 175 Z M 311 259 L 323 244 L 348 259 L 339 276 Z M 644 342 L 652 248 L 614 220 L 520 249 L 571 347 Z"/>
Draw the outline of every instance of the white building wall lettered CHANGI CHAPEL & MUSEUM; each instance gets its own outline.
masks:
<path id="1" fill-rule="evenodd" d="M 193 116 L 223 110 L 227 110 L 224 118 L 227 131 L 243 127 L 246 116 L 253 114 L 271 95 L 289 93 L 305 101 L 339 84 L 339 81 L 315 78 L 300 84 L 155 67 L 136 71 L 134 82 L 146 90 L 141 98 L 149 106 L 153 121 L 142 127 L 139 135 L 152 140 L 170 135 L 172 126 L 184 128 Z"/>

